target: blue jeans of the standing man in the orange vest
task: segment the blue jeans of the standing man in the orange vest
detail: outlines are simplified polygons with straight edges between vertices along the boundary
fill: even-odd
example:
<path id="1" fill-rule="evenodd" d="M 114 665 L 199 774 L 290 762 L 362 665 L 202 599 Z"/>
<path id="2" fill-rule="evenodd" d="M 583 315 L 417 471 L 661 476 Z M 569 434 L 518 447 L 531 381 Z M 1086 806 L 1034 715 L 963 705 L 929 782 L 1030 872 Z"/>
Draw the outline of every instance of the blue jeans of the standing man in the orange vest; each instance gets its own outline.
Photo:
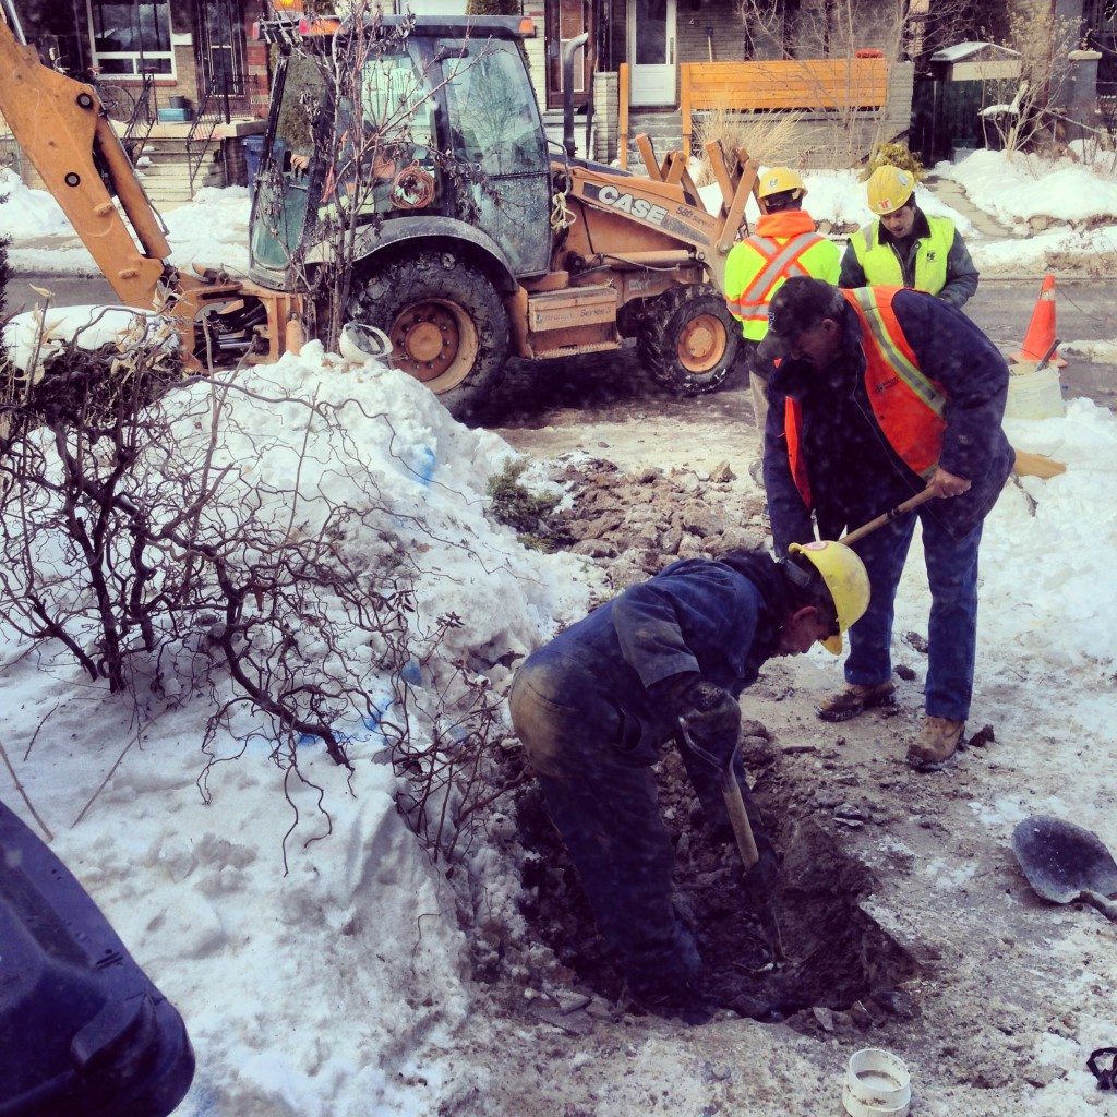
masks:
<path id="1" fill-rule="evenodd" d="M 896 588 L 911 545 L 916 516 L 923 524 L 923 548 L 930 586 L 926 709 L 932 717 L 964 722 L 970 715 L 977 646 L 981 524 L 968 535 L 955 540 L 927 508 L 919 508 L 855 544 L 853 550 L 869 572 L 872 596 L 866 614 L 849 630 L 846 681 L 872 686 L 891 678 Z"/>

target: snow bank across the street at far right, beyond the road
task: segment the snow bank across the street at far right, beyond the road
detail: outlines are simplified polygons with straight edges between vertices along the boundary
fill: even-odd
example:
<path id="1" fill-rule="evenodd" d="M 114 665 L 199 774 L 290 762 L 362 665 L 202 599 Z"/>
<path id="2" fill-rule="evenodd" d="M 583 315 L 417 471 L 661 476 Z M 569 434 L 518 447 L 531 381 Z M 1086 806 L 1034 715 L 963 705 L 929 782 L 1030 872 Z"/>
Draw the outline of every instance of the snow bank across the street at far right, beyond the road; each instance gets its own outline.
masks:
<path id="1" fill-rule="evenodd" d="M 1069 159 L 975 151 L 935 170 L 954 179 L 980 209 L 1021 232 L 1035 217 L 1078 226 L 1117 221 L 1117 181 Z"/>

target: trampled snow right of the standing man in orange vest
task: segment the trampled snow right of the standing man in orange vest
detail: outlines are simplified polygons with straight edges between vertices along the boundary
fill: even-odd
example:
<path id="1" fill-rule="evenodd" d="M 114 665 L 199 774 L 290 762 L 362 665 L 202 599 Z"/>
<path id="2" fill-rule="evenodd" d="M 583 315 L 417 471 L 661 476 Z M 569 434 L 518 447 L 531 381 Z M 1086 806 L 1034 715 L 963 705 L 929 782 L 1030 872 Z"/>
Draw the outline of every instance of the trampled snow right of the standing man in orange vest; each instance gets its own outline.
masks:
<path id="1" fill-rule="evenodd" d="M 985 521 L 971 732 L 987 719 L 999 734 L 1004 727 L 1025 739 L 1041 731 L 1058 739 L 1095 735 L 1104 723 L 1094 716 L 1111 703 L 1117 671 L 1117 418 L 1075 399 L 1061 419 L 1004 427 L 1013 446 L 1067 471 L 1010 480 Z M 897 640 L 927 631 L 920 550 L 913 547 L 900 583 Z"/>

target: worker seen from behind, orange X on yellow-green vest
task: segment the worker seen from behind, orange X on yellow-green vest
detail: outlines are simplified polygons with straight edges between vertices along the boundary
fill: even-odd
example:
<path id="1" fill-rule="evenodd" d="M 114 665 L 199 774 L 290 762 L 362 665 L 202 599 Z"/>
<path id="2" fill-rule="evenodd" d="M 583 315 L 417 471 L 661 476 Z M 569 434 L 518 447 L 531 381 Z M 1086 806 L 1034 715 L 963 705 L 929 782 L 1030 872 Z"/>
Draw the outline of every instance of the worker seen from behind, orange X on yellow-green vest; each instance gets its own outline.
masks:
<path id="1" fill-rule="evenodd" d="M 790 276 L 812 276 L 837 284 L 840 269 L 838 246 L 817 229 L 803 209 L 806 188 L 787 166 L 773 166 L 756 183 L 760 220 L 756 231 L 733 246 L 725 261 L 725 300 L 741 323 L 748 343 L 750 383 L 753 410 L 762 436 L 767 416 L 765 385 L 772 375 L 771 362 L 757 361 L 756 346 L 767 333 L 772 296 Z M 763 445 L 763 443 L 762 443 Z M 754 462 L 758 472 L 760 465 Z"/>

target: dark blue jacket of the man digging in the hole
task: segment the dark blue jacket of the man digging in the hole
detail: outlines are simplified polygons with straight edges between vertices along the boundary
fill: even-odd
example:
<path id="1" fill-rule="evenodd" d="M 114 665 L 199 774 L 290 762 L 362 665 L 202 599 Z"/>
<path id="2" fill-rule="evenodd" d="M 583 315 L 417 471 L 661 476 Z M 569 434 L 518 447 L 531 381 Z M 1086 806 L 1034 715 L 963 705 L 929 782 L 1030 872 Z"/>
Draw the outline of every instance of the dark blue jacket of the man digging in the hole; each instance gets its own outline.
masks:
<path id="1" fill-rule="evenodd" d="M 599 605 L 519 671 L 544 699 L 588 716 L 601 701 L 619 707 L 641 742 L 658 745 L 678 726 L 649 688 L 697 672 L 736 697 L 774 655 L 784 611 L 783 576 L 767 555 L 687 558 Z"/>

